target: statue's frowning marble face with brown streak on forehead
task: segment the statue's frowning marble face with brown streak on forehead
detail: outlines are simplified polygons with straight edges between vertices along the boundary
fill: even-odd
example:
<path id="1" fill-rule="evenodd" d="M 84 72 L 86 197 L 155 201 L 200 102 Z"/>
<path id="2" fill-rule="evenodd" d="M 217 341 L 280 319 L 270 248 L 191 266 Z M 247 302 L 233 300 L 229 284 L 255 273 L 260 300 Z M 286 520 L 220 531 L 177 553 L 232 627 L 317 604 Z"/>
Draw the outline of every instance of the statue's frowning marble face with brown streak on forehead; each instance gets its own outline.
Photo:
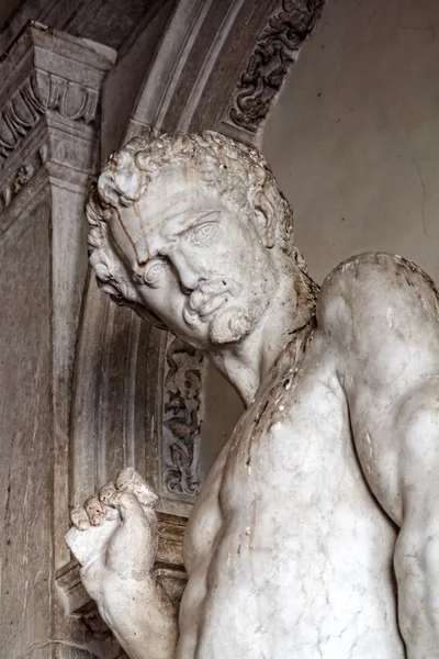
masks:
<path id="1" fill-rule="evenodd" d="M 273 254 L 256 223 L 193 170 L 164 168 L 110 227 L 145 305 L 198 348 L 244 338 L 275 295 Z"/>

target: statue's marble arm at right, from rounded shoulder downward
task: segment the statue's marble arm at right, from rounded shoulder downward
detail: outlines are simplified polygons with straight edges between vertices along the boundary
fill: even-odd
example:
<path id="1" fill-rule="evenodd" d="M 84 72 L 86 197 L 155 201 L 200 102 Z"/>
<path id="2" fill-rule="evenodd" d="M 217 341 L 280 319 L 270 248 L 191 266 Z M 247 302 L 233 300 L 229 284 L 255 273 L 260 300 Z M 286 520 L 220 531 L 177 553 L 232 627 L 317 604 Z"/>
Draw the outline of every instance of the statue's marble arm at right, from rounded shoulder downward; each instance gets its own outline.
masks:
<path id="1" fill-rule="evenodd" d="M 353 257 L 323 286 L 357 453 L 401 527 L 394 567 L 407 659 L 439 659 L 439 332 L 430 279 L 401 257 Z"/>

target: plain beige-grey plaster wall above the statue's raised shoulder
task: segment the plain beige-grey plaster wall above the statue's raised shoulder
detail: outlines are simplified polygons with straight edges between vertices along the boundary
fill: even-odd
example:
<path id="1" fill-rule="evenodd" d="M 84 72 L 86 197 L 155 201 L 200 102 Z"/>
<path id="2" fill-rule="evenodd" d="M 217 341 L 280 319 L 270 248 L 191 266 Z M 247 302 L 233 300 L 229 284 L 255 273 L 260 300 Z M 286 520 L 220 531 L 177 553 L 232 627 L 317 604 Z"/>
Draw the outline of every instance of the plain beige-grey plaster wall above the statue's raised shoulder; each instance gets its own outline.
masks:
<path id="1" fill-rule="evenodd" d="M 365 250 L 439 281 L 438 79 L 437 0 L 328 2 L 262 147 L 317 281 Z"/>

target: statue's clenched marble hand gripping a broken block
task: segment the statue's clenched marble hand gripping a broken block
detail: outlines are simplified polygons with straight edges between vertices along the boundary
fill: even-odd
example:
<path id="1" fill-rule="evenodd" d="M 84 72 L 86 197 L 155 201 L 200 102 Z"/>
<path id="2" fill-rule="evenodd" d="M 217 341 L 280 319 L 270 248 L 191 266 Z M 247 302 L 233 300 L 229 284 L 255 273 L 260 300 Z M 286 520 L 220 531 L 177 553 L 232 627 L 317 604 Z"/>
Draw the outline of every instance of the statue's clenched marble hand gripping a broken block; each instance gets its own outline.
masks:
<path id="1" fill-rule="evenodd" d="M 66 540 L 100 610 L 111 607 L 121 590 L 134 595 L 150 576 L 158 545 L 157 503 L 154 490 L 128 468 L 72 511 Z"/>

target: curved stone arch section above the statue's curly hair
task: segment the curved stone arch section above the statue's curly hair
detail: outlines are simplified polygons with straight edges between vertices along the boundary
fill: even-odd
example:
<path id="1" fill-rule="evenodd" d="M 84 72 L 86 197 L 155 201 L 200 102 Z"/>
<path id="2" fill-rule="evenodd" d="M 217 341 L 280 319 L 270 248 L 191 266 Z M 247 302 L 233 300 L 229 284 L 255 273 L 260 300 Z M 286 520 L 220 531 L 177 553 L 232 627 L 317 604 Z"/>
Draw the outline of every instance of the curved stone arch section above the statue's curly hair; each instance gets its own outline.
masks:
<path id="1" fill-rule="evenodd" d="M 258 146 L 325 0 L 180 0 L 125 131 L 214 129 Z M 213 30 L 215 25 L 215 30 Z"/>

